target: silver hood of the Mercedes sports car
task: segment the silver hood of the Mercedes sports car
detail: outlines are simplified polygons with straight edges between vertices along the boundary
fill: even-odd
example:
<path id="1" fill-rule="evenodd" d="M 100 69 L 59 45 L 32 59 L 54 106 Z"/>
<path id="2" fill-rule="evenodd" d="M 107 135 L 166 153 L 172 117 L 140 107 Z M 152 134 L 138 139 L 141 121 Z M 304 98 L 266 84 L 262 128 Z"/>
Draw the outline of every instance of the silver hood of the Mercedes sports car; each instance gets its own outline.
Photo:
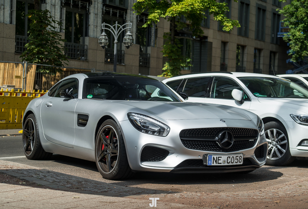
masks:
<path id="1" fill-rule="evenodd" d="M 241 119 L 251 120 L 245 110 L 220 104 L 154 101 L 118 101 L 163 119 Z"/>

